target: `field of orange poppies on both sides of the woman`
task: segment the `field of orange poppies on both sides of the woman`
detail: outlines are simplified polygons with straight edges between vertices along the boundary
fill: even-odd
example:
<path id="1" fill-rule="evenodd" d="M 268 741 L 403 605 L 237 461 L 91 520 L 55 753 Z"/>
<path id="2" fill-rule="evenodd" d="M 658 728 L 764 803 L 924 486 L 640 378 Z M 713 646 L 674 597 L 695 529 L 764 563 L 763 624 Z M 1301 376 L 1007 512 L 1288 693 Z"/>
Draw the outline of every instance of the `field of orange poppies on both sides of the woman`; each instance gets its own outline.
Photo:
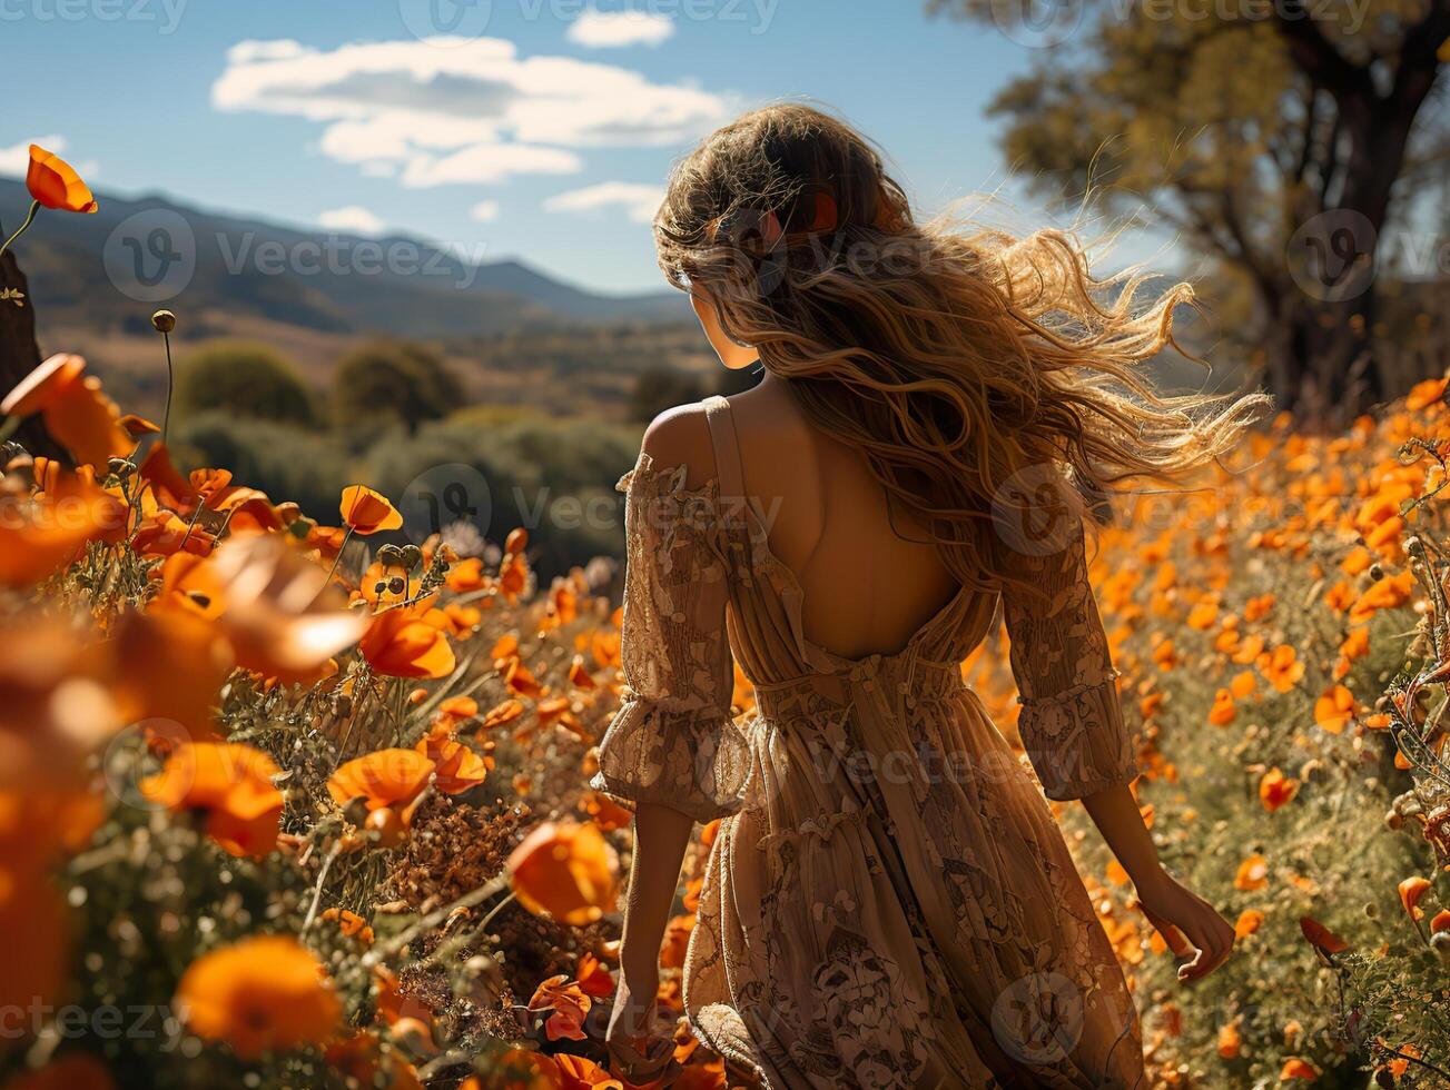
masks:
<path id="1" fill-rule="evenodd" d="M 1060 807 L 1156 1086 L 1450 1084 L 1444 394 L 1280 417 L 1098 536 L 1138 802 L 1240 936 L 1182 987 Z M 0 478 L 0 1087 L 625 1087 L 608 588 L 538 578 L 522 531 L 409 542 L 365 481 L 322 525 L 178 467 L 74 355 L 0 409 L 71 455 L 12 441 Z M 1012 723 L 1005 639 L 963 671 Z M 683 1026 L 676 1057 L 745 1084 Z"/>

